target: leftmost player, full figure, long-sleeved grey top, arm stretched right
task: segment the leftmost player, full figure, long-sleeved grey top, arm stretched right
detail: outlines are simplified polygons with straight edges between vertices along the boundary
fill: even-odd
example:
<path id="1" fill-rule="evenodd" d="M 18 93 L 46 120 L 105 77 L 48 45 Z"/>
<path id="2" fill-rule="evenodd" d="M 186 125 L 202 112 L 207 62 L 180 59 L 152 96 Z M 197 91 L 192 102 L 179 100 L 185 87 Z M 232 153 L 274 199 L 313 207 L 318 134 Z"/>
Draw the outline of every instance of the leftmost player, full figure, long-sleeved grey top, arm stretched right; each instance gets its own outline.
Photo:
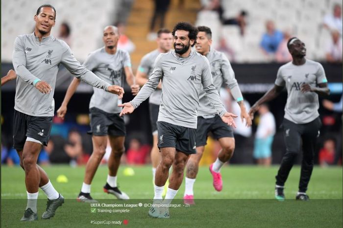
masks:
<path id="1" fill-rule="evenodd" d="M 53 94 L 59 64 L 88 84 L 123 97 L 123 88 L 111 85 L 85 69 L 74 58 L 68 45 L 50 35 L 56 10 L 45 4 L 38 8 L 31 34 L 16 38 L 13 66 L 17 73 L 14 106 L 13 147 L 25 170 L 27 206 L 22 221 L 37 220 L 40 187 L 48 197 L 43 219 L 51 218 L 64 199 L 52 186 L 45 171 L 37 165 L 42 145 L 47 146 L 54 113 Z"/>

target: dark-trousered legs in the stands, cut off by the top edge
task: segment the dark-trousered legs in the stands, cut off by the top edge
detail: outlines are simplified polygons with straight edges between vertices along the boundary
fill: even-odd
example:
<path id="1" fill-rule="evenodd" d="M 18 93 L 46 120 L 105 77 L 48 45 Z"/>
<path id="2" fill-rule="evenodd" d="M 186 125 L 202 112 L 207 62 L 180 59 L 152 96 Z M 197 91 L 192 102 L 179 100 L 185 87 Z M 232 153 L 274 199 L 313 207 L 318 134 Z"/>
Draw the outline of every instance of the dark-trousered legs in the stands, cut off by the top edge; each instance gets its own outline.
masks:
<path id="1" fill-rule="evenodd" d="M 163 28 L 164 19 L 166 17 L 166 13 L 168 11 L 170 3 L 171 0 L 154 0 L 155 10 L 151 18 L 149 33 L 147 34 L 147 40 L 154 41 L 157 39 L 157 33 L 154 32 L 156 20 L 157 18 L 159 18 L 160 20 L 160 26 L 157 28 L 157 30 Z"/>

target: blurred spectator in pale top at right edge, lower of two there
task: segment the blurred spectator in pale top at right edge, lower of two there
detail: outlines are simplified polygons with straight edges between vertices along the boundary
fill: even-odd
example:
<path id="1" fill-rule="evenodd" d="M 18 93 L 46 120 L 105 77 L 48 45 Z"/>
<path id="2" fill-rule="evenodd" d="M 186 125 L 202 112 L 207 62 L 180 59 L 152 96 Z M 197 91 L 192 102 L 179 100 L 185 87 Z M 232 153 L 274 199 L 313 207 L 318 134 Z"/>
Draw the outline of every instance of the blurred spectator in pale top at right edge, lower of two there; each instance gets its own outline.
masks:
<path id="1" fill-rule="evenodd" d="M 326 47 L 326 61 L 329 63 L 342 63 L 342 37 L 337 30 L 331 32 L 331 37 Z"/>

